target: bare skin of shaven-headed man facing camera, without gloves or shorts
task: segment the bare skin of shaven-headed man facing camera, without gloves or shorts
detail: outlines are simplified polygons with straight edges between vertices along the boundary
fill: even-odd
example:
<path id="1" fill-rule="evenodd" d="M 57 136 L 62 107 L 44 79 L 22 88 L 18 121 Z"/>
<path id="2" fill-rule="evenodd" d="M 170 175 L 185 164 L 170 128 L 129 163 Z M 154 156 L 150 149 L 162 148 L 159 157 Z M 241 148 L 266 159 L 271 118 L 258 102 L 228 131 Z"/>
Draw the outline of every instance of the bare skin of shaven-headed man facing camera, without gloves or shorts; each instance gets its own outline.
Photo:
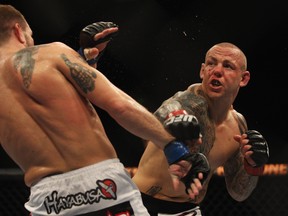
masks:
<path id="1" fill-rule="evenodd" d="M 248 149 L 243 151 L 247 140 L 240 136 L 247 130 L 247 124 L 243 115 L 232 105 L 240 87 L 246 86 L 250 79 L 246 71 L 246 58 L 231 44 L 216 45 L 207 52 L 200 77 L 202 83 L 177 92 L 162 103 L 155 115 L 164 122 L 170 112 L 184 109 L 197 117 L 202 134 L 202 144 L 198 150 L 206 155 L 211 167 L 202 189 L 197 190 L 193 200 L 185 193 L 184 184 L 181 183 L 181 187 L 175 190 L 169 179 L 165 156 L 151 141 L 147 143 L 133 181 L 142 193 L 154 198 L 199 204 L 205 197 L 213 173 L 219 166 L 224 166 L 229 194 L 235 200 L 243 201 L 258 181 L 257 176 L 250 176 L 244 170 L 243 155 L 246 154 L 245 158 L 251 160 Z M 190 145 L 190 148 L 195 151 L 195 145 Z"/>

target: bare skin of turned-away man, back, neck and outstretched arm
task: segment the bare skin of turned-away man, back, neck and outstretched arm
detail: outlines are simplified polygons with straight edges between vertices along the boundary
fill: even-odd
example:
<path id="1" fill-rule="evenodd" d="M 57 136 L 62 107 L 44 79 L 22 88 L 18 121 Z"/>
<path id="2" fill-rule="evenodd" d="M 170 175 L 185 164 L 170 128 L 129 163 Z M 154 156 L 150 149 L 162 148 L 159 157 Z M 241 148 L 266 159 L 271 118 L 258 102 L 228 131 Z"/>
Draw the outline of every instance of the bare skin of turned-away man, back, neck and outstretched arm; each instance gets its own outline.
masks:
<path id="1" fill-rule="evenodd" d="M 117 157 L 93 105 L 160 149 L 174 139 L 70 47 L 34 46 L 23 20 L 12 20 L 8 31 L 0 41 L 0 143 L 24 171 L 27 186 Z"/>

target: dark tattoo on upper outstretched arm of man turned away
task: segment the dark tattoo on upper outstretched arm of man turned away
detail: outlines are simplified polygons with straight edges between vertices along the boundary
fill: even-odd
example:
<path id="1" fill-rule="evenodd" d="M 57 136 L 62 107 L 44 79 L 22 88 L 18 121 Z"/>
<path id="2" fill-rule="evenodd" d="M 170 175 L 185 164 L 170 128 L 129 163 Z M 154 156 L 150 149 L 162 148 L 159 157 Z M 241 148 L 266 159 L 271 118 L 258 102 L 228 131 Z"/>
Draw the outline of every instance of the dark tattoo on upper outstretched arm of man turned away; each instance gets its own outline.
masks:
<path id="1" fill-rule="evenodd" d="M 89 70 L 77 63 L 71 62 L 65 54 L 62 54 L 61 58 L 69 67 L 71 77 L 75 80 L 83 92 L 88 93 L 88 91 L 91 92 L 95 89 L 95 79 L 97 75 L 94 71 Z"/>

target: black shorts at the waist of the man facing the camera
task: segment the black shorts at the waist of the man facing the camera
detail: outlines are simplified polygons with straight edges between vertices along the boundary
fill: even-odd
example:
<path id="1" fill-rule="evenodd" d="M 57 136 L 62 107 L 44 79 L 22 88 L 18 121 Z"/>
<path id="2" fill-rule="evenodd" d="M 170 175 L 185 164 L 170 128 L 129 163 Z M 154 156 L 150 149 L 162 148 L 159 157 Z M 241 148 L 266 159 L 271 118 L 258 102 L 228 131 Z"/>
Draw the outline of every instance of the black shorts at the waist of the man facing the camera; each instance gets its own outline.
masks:
<path id="1" fill-rule="evenodd" d="M 151 216 L 202 216 L 199 205 L 190 202 L 160 200 L 144 193 L 141 195 Z"/>

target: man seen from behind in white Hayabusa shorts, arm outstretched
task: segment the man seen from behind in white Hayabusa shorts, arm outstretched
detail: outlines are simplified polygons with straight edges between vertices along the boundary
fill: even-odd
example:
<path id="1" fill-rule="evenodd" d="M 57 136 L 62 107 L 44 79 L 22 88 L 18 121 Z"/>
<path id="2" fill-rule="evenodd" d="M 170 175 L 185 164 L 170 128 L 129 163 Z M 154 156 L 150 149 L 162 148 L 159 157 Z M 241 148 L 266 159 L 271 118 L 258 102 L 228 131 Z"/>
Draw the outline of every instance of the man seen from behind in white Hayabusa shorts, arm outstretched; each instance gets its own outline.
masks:
<path id="1" fill-rule="evenodd" d="M 24 16 L 0 4 L 0 143 L 24 172 L 31 189 L 25 207 L 32 216 L 149 215 L 94 106 L 159 149 L 184 145 L 89 66 L 117 31 L 111 22 L 84 28 L 88 41 L 95 42 L 88 51 L 60 42 L 34 46 Z"/>

